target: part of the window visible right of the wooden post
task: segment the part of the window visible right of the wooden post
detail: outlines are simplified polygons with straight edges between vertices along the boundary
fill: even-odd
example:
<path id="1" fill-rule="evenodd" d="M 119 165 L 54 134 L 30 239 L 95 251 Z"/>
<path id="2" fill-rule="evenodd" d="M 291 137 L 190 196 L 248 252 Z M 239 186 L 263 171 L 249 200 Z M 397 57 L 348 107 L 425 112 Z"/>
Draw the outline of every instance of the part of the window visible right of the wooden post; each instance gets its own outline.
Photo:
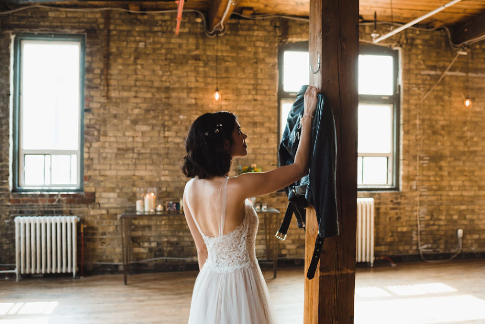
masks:
<path id="1" fill-rule="evenodd" d="M 357 186 L 397 189 L 398 53 L 376 45 L 359 53 Z"/>

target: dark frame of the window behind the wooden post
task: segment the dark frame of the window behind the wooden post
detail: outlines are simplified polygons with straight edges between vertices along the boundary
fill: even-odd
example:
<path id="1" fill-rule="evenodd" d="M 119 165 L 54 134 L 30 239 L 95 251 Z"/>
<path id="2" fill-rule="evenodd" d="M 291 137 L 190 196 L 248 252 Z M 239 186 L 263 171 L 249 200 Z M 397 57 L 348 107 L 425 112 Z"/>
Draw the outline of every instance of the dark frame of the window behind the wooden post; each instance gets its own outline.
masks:
<path id="1" fill-rule="evenodd" d="M 280 125 L 282 123 L 282 102 L 285 100 L 292 100 L 296 99 L 297 93 L 286 92 L 283 89 L 283 54 L 285 51 L 306 51 L 308 52 L 308 42 L 297 42 L 291 44 L 281 44 L 278 49 L 278 70 L 279 70 L 279 78 L 278 78 L 278 118 L 277 118 L 277 125 L 278 125 L 278 143 L 279 145 L 282 130 Z M 359 55 L 360 54 L 372 54 L 372 55 L 387 55 L 392 56 L 393 59 L 393 85 L 392 89 L 393 94 L 389 96 L 381 96 L 381 95 L 358 95 L 358 101 L 360 104 L 386 104 L 392 105 L 392 152 L 391 152 L 391 161 L 388 162 L 388 179 L 390 177 L 390 183 L 386 185 L 357 185 L 358 191 L 383 191 L 383 190 L 399 190 L 399 120 L 400 120 L 400 66 L 399 66 L 399 51 L 390 49 L 388 47 L 382 47 L 379 45 L 371 45 L 371 44 L 359 44 Z M 364 156 L 383 156 L 382 154 L 375 154 L 371 155 L 369 153 L 357 153 L 357 158 L 364 157 Z M 388 155 L 385 155 L 386 157 Z M 391 168 L 391 169 L 390 169 Z M 389 174 L 390 173 L 390 174 Z M 357 181 L 357 179 L 356 179 Z"/>

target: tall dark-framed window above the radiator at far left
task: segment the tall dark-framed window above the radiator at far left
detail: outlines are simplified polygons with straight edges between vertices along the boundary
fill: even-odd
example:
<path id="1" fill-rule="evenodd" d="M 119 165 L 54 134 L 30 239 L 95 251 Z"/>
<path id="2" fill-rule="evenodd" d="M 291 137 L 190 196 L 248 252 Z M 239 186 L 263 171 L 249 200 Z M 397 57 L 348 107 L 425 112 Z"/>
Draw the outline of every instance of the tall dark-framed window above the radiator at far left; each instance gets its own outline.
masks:
<path id="1" fill-rule="evenodd" d="M 13 190 L 81 191 L 84 36 L 14 39 Z"/>

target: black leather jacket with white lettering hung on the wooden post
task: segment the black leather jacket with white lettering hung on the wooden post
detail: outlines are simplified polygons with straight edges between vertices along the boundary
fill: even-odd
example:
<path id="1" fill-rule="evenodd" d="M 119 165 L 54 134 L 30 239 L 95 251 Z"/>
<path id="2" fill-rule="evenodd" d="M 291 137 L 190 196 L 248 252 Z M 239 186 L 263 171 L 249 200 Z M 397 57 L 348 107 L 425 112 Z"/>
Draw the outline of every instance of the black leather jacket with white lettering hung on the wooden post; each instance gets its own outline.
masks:
<path id="1" fill-rule="evenodd" d="M 303 116 L 303 97 L 307 87 L 308 85 L 301 87 L 295 102 L 291 106 L 278 151 L 280 166 L 294 162 L 301 133 L 300 119 Z M 318 94 L 317 109 L 313 119 L 311 148 L 309 174 L 285 188 L 290 203 L 277 237 L 284 239 L 282 236 L 286 236 L 293 213 L 296 216 L 298 227 L 304 228 L 304 208 L 311 204 L 315 208 L 318 221 L 317 241 L 321 238 L 321 244 L 323 244 L 323 238 L 339 235 L 335 180 L 337 162 L 335 121 L 329 102 L 323 94 Z M 315 246 L 320 245 L 321 248 L 321 244 L 317 243 Z"/>

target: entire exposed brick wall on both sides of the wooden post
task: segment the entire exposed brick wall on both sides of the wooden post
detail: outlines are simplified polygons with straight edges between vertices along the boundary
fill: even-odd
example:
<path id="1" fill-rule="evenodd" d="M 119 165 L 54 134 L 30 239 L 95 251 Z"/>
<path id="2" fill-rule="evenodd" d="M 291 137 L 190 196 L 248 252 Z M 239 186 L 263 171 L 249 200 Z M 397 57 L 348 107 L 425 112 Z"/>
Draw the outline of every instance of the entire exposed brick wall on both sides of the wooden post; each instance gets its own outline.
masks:
<path id="1" fill-rule="evenodd" d="M 157 187 L 161 200 L 179 200 L 187 179 L 178 162 L 190 123 L 203 112 L 229 110 L 239 116 L 248 134 L 248 156 L 237 164 L 257 163 L 263 170 L 277 162 L 277 56 L 280 42 L 308 39 L 305 23 L 273 20 L 230 20 L 219 37 L 218 85 L 215 103 L 217 40 L 203 34 L 194 14 L 184 14 L 181 33 L 174 35 L 175 15 L 109 14 L 109 47 L 105 14 L 31 9 L 2 16 L 0 33 L 0 264 L 13 263 L 13 216 L 27 205 L 39 213 L 52 208 L 82 210 L 87 263 L 121 262 L 118 215 L 133 207 L 138 187 Z M 10 36 L 20 31 L 83 33 L 86 42 L 85 195 L 11 194 L 9 176 Z M 361 39 L 370 30 L 362 27 Z M 420 106 L 420 171 L 416 178 L 416 116 L 419 98 L 454 52 L 442 32 L 408 30 L 385 44 L 402 50 L 401 191 L 359 193 L 376 199 L 376 254 L 417 253 L 416 211 L 420 197 L 422 243 L 449 250 L 454 230 L 464 229 L 465 251 L 485 250 L 482 168 L 485 95 L 483 76 L 470 78 L 473 107 L 462 109 L 463 76 L 446 76 Z M 108 66 L 104 53 L 109 53 Z M 472 47 L 469 69 L 485 73 L 484 45 Z M 464 71 L 460 57 L 452 71 Z M 107 76 L 107 77 L 106 77 Z M 107 87 L 106 87 L 107 86 Z M 233 171 L 231 174 L 235 174 Z M 23 197 L 23 198 L 22 198 Z M 34 199 L 35 201 L 30 201 Z M 53 199 L 55 199 L 53 201 Z M 282 193 L 258 201 L 284 211 Z M 264 255 L 260 222 L 258 255 Z M 169 230 L 169 231 L 167 231 Z M 133 227 L 136 258 L 194 256 L 183 216 L 140 220 Z M 304 233 L 294 221 L 280 244 L 280 255 L 302 257 Z"/>

